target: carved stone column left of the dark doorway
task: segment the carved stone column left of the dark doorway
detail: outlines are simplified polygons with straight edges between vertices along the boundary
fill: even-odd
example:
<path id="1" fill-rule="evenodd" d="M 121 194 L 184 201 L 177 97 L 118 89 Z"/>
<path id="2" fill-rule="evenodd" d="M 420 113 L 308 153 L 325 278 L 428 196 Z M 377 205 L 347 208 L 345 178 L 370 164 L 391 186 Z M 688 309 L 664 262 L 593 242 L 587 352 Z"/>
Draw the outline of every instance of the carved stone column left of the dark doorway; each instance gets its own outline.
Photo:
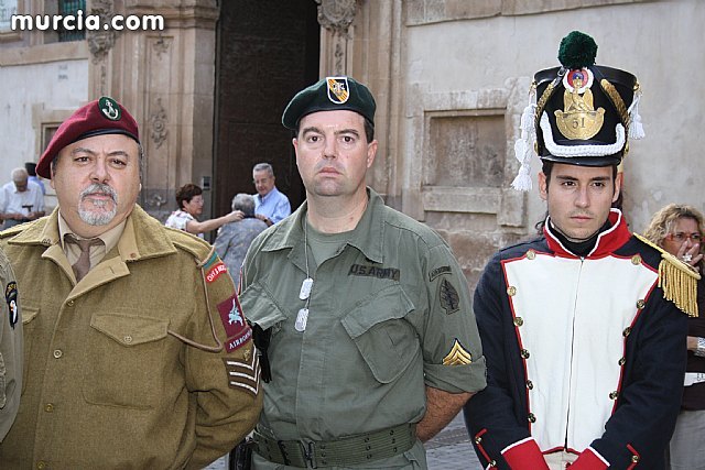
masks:
<path id="1" fill-rule="evenodd" d="M 93 0 L 94 14 L 161 15 L 163 31 L 89 35 L 90 98 L 110 95 L 133 113 L 145 151 L 140 204 L 165 219 L 175 190 L 213 168 L 215 0 Z M 209 195 L 206 207 L 209 211 Z"/>

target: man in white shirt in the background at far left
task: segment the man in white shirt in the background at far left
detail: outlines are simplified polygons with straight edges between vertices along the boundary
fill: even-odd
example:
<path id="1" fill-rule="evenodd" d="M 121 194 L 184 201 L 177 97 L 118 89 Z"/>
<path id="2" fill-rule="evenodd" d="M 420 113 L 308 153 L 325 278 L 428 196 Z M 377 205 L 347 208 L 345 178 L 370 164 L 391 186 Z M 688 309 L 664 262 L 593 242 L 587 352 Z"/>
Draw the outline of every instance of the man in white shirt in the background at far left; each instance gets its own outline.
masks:
<path id="1" fill-rule="evenodd" d="M 0 189 L 0 219 L 3 229 L 44 217 L 42 188 L 29 181 L 24 168 L 14 168 L 12 181 Z"/>

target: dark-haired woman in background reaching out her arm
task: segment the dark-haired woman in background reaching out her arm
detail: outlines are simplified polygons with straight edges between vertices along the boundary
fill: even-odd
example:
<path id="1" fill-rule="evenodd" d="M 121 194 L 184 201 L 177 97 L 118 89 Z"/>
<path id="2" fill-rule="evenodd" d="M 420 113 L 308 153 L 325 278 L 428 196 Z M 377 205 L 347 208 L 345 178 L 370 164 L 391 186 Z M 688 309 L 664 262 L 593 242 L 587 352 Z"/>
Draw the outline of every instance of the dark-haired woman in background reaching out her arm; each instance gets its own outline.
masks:
<path id="1" fill-rule="evenodd" d="M 209 219 L 199 222 L 196 220 L 196 216 L 200 216 L 203 212 L 203 189 L 192 183 L 185 184 L 176 192 L 176 204 L 178 210 L 174 210 L 166 222 L 166 227 L 172 229 L 178 229 L 188 233 L 197 234 L 204 238 L 205 232 L 218 229 L 228 222 L 237 222 L 242 220 L 242 212 L 239 210 L 232 211 L 227 216 L 218 217 L 217 219 Z"/>

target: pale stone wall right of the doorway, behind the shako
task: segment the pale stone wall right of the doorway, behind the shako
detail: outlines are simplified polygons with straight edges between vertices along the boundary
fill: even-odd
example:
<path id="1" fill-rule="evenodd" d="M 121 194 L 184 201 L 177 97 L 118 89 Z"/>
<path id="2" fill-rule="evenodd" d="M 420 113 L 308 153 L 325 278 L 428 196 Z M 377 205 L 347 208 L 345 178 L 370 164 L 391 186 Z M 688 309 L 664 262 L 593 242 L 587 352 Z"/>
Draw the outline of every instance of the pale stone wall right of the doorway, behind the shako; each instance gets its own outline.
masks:
<path id="1" fill-rule="evenodd" d="M 698 0 L 358 1 L 352 67 L 379 98 L 380 155 L 369 183 L 441 232 L 471 285 L 494 251 L 533 234 L 545 204 L 509 188 L 533 74 L 560 65 L 561 39 L 593 35 L 597 63 L 632 72 L 647 139 L 630 144 L 625 209 L 634 230 L 670 201 L 705 207 L 705 91 Z M 381 34 L 382 24 L 387 30 Z M 536 182 L 539 161 L 533 164 Z"/>

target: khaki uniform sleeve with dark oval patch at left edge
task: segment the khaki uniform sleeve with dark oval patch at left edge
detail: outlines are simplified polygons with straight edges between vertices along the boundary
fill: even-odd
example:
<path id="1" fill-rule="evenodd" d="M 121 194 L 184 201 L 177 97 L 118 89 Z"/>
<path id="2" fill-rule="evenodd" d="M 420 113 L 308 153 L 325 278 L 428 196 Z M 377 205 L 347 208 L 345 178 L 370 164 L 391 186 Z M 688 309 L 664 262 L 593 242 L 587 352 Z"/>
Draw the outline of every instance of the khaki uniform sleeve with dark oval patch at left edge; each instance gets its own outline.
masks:
<path id="1" fill-rule="evenodd" d="M 18 283 L 10 260 L 0 250 L 0 442 L 20 407 L 22 390 L 22 317 Z M 0 462 L 1 463 L 1 462 Z M 0 464 L 0 467 L 2 467 Z"/>

